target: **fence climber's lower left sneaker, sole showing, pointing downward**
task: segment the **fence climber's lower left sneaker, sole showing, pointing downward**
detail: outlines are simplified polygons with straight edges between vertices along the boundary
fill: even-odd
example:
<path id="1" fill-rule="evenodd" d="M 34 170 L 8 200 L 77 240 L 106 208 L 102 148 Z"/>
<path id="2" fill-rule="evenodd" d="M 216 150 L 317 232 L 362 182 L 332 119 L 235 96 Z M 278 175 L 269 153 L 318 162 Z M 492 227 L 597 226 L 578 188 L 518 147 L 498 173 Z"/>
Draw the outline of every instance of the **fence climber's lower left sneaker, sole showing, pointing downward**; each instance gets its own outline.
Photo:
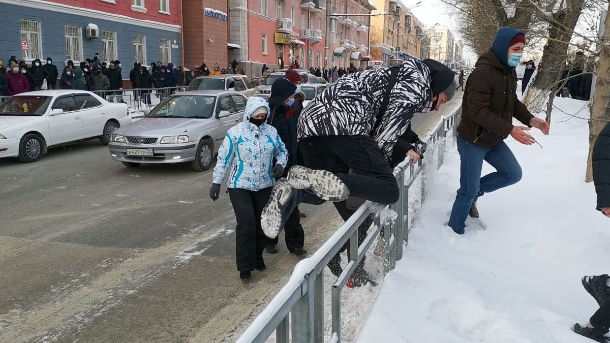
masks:
<path id="1" fill-rule="evenodd" d="M 290 213 L 298 203 L 295 195 L 296 190 L 290 187 L 285 178 L 279 179 L 273 186 L 271 197 L 260 215 L 260 226 L 262 226 L 265 236 L 278 237 L 279 231 L 284 227 Z"/>

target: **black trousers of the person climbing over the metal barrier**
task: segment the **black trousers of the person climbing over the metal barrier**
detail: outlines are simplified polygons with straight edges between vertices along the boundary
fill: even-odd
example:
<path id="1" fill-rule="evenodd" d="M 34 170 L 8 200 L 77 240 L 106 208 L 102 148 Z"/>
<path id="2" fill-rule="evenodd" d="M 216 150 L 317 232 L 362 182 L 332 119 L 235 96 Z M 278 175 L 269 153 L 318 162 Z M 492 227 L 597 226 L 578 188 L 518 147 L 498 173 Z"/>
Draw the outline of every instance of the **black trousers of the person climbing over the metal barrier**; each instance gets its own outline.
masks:
<path id="1" fill-rule="evenodd" d="M 383 151 L 371 137 L 310 137 L 301 140 L 300 146 L 308 168 L 333 171 L 332 166 L 339 162 L 354 171 L 352 175 L 346 171 L 337 173 L 353 197 L 384 205 L 398 201 L 398 181 Z"/>

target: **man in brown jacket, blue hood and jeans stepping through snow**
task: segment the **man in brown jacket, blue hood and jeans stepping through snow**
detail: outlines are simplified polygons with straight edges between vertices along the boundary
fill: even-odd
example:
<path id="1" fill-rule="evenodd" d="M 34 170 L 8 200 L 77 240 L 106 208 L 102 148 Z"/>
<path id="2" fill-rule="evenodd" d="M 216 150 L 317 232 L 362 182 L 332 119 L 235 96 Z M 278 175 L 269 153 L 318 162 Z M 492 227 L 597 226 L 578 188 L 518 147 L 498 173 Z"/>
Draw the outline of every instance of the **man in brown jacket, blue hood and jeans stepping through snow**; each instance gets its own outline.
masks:
<path id="1" fill-rule="evenodd" d="M 548 123 L 529 113 L 515 94 L 515 67 L 524 46 L 523 32 L 501 27 L 492 48 L 479 57 L 468 77 L 458 126 L 460 188 L 448 222 L 455 233 L 464 234 L 468 215 L 479 217 L 478 198 L 521 179 L 519 162 L 504 139 L 511 135 L 517 142 L 531 145 L 535 140 L 527 131 L 532 126 L 548 134 Z M 512 125 L 513 117 L 526 126 Z M 496 171 L 481 178 L 483 161 Z"/>

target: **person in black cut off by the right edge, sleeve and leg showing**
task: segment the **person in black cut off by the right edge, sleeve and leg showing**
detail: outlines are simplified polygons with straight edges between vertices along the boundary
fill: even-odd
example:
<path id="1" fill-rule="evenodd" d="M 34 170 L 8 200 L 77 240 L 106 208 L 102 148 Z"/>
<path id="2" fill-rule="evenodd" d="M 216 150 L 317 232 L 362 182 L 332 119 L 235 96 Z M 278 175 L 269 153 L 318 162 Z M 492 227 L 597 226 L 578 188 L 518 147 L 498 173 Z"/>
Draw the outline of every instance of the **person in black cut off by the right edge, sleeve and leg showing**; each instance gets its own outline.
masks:
<path id="1" fill-rule="evenodd" d="M 597 193 L 597 207 L 610 218 L 610 123 L 601 130 L 593 146 L 593 182 Z M 604 336 L 610 329 L 610 279 L 608 275 L 584 276 L 584 289 L 595 298 L 600 308 L 584 327 L 574 324 L 572 330 L 597 342 L 607 342 Z"/>

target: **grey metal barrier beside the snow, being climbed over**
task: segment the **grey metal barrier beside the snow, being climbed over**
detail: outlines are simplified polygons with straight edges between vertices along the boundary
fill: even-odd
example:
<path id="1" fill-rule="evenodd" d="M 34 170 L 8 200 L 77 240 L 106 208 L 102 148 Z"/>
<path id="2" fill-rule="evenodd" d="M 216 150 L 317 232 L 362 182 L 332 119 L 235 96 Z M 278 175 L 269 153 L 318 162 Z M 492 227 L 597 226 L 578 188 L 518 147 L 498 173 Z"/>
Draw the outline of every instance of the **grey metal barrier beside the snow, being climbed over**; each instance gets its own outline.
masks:
<path id="1" fill-rule="evenodd" d="M 453 132 L 456 137 L 458 118 L 462 107 L 452 114 L 442 117 L 432 131 L 426 135 L 429 145 L 437 145 L 437 169 L 443 163 L 446 149 L 447 133 Z M 433 156 L 433 151 L 429 150 Z M 324 269 L 329 261 L 347 242 L 350 244 L 349 262 L 343 273 L 332 284 L 331 290 L 331 342 L 341 342 L 341 291 L 350 279 L 351 274 L 375 239 L 384 230 L 385 240 L 384 275 L 395 268 L 396 261 L 403 256 L 403 241 L 409 238 L 412 217 L 409 213 L 409 190 L 415 187 L 414 182 L 422 176 L 422 203 L 426 196 L 425 166 L 434 162 L 431 158 L 420 159 L 412 165 L 410 159 L 401 162 L 394 175 L 401 186 L 397 203 L 381 206 L 370 201 L 362 206 L 343 224 L 316 253 L 296 264 L 290 280 L 271 300 L 267 308 L 256 317 L 237 341 L 238 343 L 262 343 L 276 332 L 277 343 L 310 343 L 324 341 Z M 389 211 L 392 210 L 392 211 Z M 376 215 L 374 228 L 364 242 L 358 247 L 358 226 L 370 214 Z M 292 336 L 292 339 L 290 339 Z"/>

